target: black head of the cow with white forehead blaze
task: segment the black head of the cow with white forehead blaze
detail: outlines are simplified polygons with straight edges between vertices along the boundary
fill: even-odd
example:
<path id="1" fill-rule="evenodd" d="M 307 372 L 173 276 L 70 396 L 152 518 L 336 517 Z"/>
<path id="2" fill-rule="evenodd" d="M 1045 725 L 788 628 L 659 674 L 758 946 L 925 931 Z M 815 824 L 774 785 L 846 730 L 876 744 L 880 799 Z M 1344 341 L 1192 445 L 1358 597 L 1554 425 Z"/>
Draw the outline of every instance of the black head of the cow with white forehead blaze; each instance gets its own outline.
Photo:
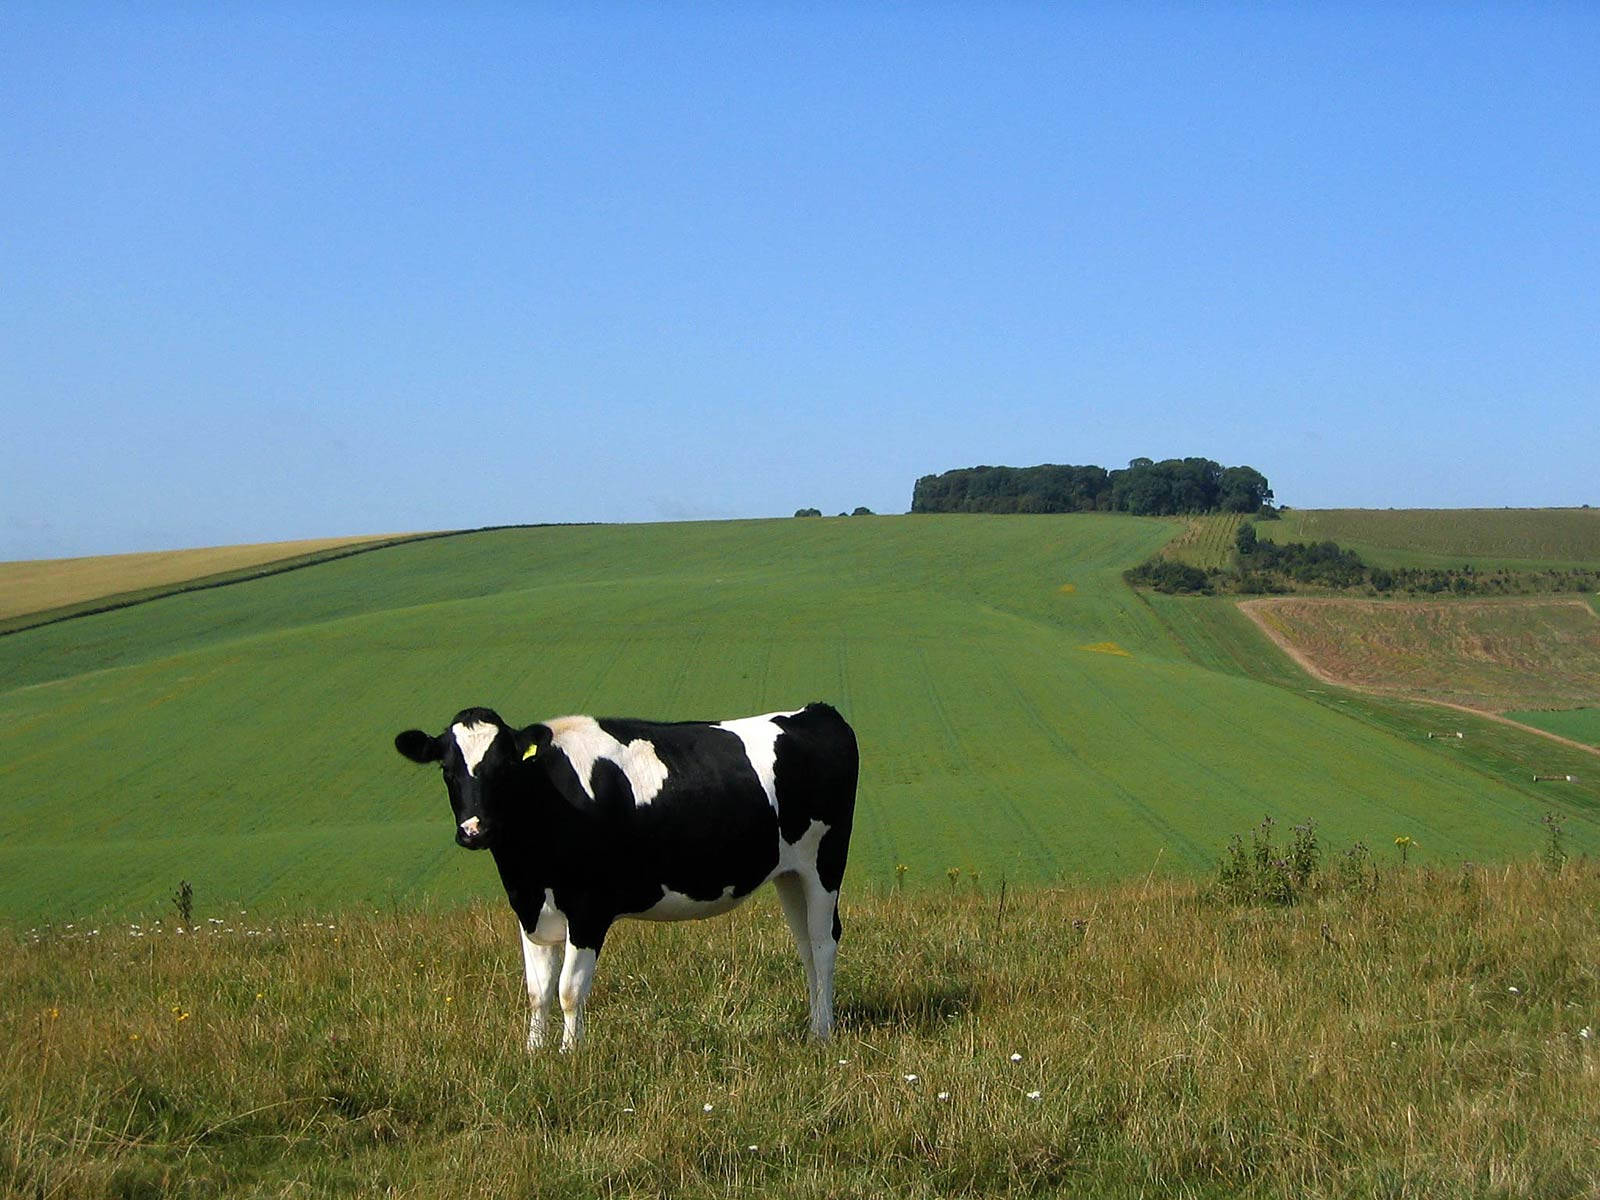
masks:
<path id="1" fill-rule="evenodd" d="M 414 763 L 438 763 L 456 814 L 456 845 L 488 850 L 504 824 L 507 782 L 549 744 L 544 725 L 512 730 L 493 709 L 462 709 L 437 738 L 421 730 L 395 736 L 395 749 Z"/>

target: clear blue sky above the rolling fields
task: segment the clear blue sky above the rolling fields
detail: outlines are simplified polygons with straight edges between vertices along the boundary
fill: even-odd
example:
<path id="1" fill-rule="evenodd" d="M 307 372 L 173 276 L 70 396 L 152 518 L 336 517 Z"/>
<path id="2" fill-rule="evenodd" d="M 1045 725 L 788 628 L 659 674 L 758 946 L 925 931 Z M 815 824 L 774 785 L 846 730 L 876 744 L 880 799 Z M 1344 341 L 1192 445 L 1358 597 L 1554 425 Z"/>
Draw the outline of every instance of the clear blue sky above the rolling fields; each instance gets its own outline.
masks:
<path id="1" fill-rule="evenodd" d="M 0 558 L 1600 504 L 1594 5 L 6 5 Z"/>

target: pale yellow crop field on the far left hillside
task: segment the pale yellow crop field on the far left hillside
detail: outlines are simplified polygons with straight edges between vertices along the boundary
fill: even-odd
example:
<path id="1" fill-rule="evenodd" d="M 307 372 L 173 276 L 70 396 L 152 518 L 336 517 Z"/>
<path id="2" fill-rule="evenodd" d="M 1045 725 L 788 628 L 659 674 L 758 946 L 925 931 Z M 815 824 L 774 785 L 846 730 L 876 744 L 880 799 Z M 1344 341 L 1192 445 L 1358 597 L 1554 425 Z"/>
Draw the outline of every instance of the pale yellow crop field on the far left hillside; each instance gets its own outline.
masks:
<path id="1" fill-rule="evenodd" d="M 43 613 L 101 597 L 170 587 L 226 571 L 382 541 L 392 534 L 309 538 L 290 542 L 213 546 L 197 550 L 109 554 L 90 558 L 32 558 L 0 563 L 0 619 Z"/>

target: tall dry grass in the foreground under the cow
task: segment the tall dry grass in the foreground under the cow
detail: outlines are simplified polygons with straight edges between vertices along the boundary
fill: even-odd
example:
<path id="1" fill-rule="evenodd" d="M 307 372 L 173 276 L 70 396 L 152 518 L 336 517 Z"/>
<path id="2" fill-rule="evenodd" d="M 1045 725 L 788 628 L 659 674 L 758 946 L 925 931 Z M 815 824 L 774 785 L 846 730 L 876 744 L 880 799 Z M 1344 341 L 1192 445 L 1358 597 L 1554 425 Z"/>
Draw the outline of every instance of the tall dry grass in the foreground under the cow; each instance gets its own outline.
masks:
<path id="1" fill-rule="evenodd" d="M 1395 870 L 1288 909 L 1171 883 L 846 896 L 826 1046 L 765 901 L 619 926 L 576 1056 L 523 1051 L 499 907 L 211 918 L 5 941 L 8 1194 L 1600 1187 L 1587 864 Z"/>

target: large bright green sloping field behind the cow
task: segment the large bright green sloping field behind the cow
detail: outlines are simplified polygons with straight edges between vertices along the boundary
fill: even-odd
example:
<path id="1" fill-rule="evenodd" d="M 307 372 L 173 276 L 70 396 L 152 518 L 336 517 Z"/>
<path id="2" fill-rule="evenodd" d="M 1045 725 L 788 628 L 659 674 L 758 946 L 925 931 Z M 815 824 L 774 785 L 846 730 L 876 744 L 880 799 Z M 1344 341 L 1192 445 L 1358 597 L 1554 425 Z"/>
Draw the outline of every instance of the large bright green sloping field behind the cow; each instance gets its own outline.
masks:
<path id="1" fill-rule="evenodd" d="M 1267 811 L 1334 842 L 1410 832 L 1446 861 L 1536 845 L 1528 736 L 1462 762 L 1403 709 L 1310 694 L 1237 613 L 1130 592 L 1120 570 L 1174 528 L 486 531 L 0 638 L 0 912 L 155 912 L 179 878 L 202 906 L 490 896 L 437 779 L 389 744 L 466 704 L 832 699 L 864 750 L 856 886 L 896 862 L 912 885 L 1203 869 Z M 1574 848 L 1600 845 L 1595 795 L 1570 800 Z"/>

